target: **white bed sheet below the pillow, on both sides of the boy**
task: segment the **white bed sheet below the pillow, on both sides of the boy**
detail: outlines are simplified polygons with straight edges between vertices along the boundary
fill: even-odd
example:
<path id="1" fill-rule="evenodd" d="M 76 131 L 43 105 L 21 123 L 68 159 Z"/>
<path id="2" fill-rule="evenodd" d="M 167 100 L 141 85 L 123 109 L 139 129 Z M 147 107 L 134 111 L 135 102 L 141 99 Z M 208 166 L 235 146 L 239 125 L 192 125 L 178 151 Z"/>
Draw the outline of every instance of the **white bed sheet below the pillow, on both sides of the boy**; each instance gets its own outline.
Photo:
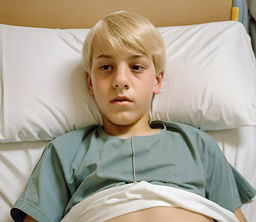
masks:
<path id="1" fill-rule="evenodd" d="M 207 131 L 227 160 L 256 188 L 256 126 Z M 9 210 L 22 193 L 48 141 L 0 143 L 0 222 L 13 221 Z M 256 199 L 244 204 L 248 221 L 256 218 Z"/>

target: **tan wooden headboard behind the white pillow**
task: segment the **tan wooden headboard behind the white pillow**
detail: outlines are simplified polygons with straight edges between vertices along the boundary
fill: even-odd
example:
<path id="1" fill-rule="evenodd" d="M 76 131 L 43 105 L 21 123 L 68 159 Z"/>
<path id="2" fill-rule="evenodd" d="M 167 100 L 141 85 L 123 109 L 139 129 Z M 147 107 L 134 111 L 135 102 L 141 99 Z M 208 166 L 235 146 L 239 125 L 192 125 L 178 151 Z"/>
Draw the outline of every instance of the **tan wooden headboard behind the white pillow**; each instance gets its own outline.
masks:
<path id="1" fill-rule="evenodd" d="M 157 27 L 231 20 L 232 0 L 2 0 L 0 24 L 52 29 L 91 28 L 104 15 L 125 10 Z"/>

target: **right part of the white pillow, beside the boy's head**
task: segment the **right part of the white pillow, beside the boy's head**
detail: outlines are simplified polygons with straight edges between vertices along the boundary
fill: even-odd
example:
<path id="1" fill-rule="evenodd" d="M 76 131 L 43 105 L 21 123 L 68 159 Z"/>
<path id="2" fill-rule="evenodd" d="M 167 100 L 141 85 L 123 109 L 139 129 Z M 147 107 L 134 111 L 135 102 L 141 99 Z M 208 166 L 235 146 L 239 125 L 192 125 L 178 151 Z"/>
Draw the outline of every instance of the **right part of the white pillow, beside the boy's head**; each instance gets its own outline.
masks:
<path id="1" fill-rule="evenodd" d="M 240 22 L 160 28 L 167 67 L 150 119 L 200 130 L 256 125 L 256 63 Z"/>

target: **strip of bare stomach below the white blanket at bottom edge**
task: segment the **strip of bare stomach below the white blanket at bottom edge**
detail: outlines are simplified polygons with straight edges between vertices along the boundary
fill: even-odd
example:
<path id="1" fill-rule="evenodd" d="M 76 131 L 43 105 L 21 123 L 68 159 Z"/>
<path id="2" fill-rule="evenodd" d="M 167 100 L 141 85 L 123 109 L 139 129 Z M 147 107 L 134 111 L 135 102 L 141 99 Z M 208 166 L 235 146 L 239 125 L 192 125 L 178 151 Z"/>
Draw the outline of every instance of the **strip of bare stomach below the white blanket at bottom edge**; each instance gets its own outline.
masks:
<path id="1" fill-rule="evenodd" d="M 130 214 L 107 220 L 107 222 L 207 222 L 214 220 L 211 217 L 197 214 L 179 207 L 152 207 L 145 210 L 138 210 Z"/>

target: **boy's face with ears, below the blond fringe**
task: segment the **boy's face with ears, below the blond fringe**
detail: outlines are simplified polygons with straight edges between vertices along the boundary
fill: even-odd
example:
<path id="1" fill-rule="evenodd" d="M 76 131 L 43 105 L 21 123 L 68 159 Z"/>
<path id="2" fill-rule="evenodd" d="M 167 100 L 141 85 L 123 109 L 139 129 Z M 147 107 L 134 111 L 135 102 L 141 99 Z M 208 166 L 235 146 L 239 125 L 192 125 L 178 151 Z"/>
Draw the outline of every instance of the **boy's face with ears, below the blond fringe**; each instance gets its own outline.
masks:
<path id="1" fill-rule="evenodd" d="M 148 123 L 152 96 L 160 93 L 162 77 L 163 73 L 156 77 L 153 59 L 115 51 L 106 42 L 96 41 L 87 78 L 104 126 Z"/>

